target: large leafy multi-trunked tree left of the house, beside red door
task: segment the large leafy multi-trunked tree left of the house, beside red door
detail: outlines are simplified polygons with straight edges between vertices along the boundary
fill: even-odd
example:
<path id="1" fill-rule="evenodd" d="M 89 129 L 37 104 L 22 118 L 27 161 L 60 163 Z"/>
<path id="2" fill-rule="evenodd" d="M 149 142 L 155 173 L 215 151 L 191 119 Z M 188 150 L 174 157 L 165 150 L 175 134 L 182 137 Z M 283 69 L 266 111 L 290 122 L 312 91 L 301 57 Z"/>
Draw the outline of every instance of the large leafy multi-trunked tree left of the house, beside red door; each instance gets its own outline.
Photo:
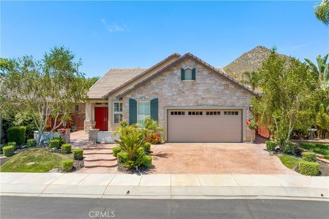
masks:
<path id="1" fill-rule="evenodd" d="M 75 103 L 86 100 L 88 88 L 80 66 L 81 60 L 75 62 L 75 55 L 64 47 L 54 47 L 38 61 L 32 56 L 1 59 L 1 114 L 32 115 L 38 133 L 44 133 L 51 116 L 54 123 L 49 133 L 52 133 L 63 120 L 69 119 Z M 44 141 L 41 136 L 37 139 L 38 146 Z"/>

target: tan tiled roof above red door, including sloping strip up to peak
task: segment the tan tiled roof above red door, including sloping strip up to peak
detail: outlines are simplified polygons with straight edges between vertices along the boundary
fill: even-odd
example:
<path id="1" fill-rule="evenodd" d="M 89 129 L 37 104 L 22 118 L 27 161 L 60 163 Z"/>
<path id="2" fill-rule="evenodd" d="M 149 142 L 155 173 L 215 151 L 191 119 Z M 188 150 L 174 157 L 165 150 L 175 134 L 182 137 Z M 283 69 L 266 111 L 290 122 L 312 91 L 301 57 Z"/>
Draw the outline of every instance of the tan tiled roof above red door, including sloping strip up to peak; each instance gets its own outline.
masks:
<path id="1" fill-rule="evenodd" d="M 89 89 L 88 97 L 89 99 L 106 99 L 113 92 L 143 77 L 173 57 L 178 58 L 180 54 L 173 53 L 150 68 L 111 68 Z"/>

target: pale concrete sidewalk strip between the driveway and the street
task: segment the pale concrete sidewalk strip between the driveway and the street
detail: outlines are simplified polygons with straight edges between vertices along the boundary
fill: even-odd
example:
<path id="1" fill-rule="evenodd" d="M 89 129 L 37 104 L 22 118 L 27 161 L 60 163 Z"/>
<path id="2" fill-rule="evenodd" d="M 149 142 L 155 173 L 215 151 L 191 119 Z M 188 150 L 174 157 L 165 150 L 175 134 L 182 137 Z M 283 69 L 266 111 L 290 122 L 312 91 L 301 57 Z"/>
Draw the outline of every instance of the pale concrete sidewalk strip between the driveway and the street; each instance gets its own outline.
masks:
<path id="1" fill-rule="evenodd" d="M 125 175 L 0 172 L 0 178 L 0 194 L 2 196 L 187 199 L 289 198 L 329 201 L 329 177 L 306 177 L 302 175 Z"/>

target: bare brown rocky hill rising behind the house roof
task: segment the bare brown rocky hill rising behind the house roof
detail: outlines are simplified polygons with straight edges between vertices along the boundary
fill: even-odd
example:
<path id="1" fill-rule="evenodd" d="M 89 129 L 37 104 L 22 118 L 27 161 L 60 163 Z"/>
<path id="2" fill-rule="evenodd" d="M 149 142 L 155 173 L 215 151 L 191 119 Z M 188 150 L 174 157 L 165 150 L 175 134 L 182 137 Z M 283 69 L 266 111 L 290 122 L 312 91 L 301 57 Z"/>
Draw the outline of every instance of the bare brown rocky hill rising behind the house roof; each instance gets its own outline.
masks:
<path id="1" fill-rule="evenodd" d="M 266 47 L 255 47 L 254 49 L 243 53 L 240 57 L 225 66 L 223 69 L 228 75 L 241 81 L 244 72 L 257 70 L 263 64 L 264 60 L 267 59 L 270 53 L 271 50 Z M 287 57 L 286 55 L 283 56 Z"/>

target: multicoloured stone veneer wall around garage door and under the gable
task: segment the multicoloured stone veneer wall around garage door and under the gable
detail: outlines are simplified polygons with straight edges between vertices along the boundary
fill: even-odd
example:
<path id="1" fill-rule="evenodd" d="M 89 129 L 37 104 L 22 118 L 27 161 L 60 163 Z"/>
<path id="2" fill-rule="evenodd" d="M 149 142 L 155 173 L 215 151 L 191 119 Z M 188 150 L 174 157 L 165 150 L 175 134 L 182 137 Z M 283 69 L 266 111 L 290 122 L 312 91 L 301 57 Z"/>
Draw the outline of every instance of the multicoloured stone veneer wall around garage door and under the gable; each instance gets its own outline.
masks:
<path id="1" fill-rule="evenodd" d="M 187 65 L 196 68 L 195 81 L 181 81 L 180 68 Z M 193 60 L 185 60 L 124 96 L 124 120 L 129 120 L 129 98 L 158 98 L 159 123 L 164 126 L 164 107 L 173 106 L 243 107 L 247 109 L 248 117 L 252 94 L 203 65 L 196 64 Z M 254 139 L 252 131 L 247 128 L 246 141 L 252 137 Z"/>

